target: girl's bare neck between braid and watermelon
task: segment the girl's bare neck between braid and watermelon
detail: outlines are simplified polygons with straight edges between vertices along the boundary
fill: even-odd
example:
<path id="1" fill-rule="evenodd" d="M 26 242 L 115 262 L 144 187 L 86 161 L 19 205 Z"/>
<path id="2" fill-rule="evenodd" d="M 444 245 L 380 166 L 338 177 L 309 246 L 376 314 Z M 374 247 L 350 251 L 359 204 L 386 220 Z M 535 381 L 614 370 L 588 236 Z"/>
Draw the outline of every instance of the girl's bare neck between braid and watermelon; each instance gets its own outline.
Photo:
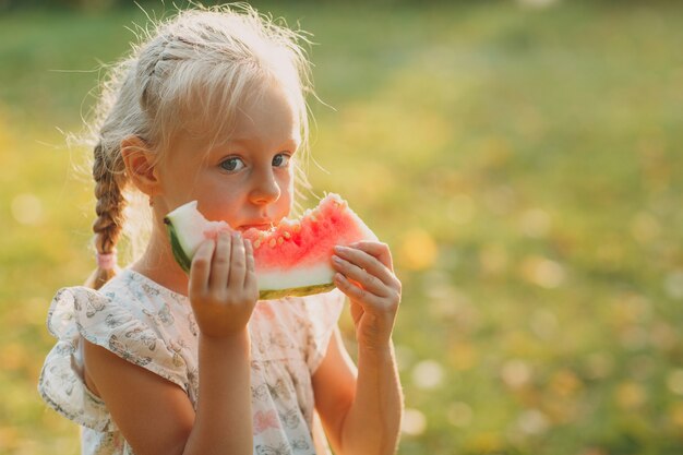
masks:
<path id="1" fill-rule="evenodd" d="M 188 275 L 176 263 L 165 230 L 153 230 L 147 249 L 131 268 L 173 292 L 188 295 Z"/>

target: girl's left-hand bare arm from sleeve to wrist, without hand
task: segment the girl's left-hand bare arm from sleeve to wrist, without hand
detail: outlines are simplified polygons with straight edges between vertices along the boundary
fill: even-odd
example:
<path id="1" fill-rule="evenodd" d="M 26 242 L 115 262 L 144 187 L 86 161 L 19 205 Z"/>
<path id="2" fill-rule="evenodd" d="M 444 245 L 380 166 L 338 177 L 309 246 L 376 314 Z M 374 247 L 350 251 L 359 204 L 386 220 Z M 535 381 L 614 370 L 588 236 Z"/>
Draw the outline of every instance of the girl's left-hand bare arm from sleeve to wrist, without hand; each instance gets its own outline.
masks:
<path id="1" fill-rule="evenodd" d="M 250 396 L 249 385 L 244 387 L 249 381 L 248 343 L 200 339 L 202 381 L 196 415 L 180 386 L 85 342 L 87 385 L 104 399 L 136 454 L 251 454 L 251 440 L 240 442 L 240 436 L 251 434 L 247 432 L 251 427 L 245 428 L 251 419 L 243 418 L 251 408 L 241 403 L 243 396 Z M 230 443 L 229 452 L 219 448 L 226 443 Z"/>

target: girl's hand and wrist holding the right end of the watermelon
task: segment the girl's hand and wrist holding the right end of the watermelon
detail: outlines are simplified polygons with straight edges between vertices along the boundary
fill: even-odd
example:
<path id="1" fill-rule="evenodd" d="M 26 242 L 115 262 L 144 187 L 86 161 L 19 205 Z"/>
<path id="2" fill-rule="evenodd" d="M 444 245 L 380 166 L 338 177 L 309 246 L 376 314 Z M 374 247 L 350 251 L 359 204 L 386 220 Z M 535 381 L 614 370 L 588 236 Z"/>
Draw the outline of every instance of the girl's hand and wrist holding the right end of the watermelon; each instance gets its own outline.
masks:
<path id="1" fill-rule="evenodd" d="M 400 303 L 400 280 L 394 275 L 386 243 L 362 241 L 335 247 L 335 285 L 351 301 L 359 347 L 385 349 Z"/>

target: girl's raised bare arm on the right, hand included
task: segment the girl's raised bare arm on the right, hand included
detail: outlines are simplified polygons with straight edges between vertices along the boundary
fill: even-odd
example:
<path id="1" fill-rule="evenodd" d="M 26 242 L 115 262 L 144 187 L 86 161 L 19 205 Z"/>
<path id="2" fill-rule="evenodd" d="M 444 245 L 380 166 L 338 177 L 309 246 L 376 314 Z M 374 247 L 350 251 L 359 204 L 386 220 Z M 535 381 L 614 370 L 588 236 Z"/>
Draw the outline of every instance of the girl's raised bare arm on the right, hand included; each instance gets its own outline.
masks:
<path id="1" fill-rule="evenodd" d="M 335 331 L 313 375 L 315 406 L 338 454 L 394 454 L 403 394 L 391 335 L 400 282 L 383 243 L 361 242 L 337 254 L 342 262 L 335 268 L 343 274 L 337 286 L 350 299 L 356 324 L 358 369 Z"/>

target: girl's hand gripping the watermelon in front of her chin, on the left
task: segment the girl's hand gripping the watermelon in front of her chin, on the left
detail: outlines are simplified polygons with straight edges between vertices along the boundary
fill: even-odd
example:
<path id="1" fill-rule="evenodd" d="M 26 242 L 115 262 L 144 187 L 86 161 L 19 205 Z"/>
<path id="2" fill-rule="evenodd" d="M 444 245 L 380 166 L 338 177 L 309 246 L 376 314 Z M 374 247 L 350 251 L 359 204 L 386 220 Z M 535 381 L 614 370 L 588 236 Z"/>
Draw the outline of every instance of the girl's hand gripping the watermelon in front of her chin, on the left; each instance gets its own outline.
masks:
<path id="1" fill-rule="evenodd" d="M 221 232 L 202 243 L 192 260 L 188 294 L 204 336 L 243 333 L 259 300 L 251 242 L 239 232 Z"/>

